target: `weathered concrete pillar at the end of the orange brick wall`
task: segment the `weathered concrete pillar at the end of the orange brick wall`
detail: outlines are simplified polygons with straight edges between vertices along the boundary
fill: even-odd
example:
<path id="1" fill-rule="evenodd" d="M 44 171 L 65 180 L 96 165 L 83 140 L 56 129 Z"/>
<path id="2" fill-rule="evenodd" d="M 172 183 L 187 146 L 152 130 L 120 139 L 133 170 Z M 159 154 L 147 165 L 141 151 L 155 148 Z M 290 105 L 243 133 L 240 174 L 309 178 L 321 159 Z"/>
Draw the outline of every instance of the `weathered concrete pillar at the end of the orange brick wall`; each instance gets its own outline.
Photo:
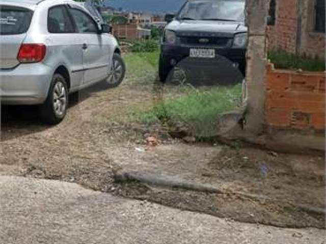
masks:
<path id="1" fill-rule="evenodd" d="M 269 0 L 247 0 L 249 44 L 247 51 L 247 124 L 249 133 L 259 135 L 264 125 L 266 25 Z"/>

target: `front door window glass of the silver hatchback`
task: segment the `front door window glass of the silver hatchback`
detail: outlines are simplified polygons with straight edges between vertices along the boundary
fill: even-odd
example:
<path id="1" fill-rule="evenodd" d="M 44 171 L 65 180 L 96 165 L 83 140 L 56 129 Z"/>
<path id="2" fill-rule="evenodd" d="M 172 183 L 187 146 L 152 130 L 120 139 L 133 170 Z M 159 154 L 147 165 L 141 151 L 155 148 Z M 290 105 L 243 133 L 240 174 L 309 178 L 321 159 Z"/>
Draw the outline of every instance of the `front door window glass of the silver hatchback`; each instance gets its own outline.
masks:
<path id="1" fill-rule="evenodd" d="M 69 9 L 79 33 L 97 33 L 98 27 L 95 21 L 86 13 L 78 9 Z"/>

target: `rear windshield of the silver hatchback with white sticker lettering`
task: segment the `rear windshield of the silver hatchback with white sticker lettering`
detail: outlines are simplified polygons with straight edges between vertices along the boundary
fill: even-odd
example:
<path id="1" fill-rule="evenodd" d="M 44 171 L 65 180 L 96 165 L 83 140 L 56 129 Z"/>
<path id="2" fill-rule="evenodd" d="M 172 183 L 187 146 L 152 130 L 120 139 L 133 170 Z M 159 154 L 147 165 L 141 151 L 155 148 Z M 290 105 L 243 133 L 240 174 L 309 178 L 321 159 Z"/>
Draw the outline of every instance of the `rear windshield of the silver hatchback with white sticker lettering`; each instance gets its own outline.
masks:
<path id="1" fill-rule="evenodd" d="M 0 35 L 26 33 L 30 27 L 33 11 L 25 8 L 0 6 Z"/>

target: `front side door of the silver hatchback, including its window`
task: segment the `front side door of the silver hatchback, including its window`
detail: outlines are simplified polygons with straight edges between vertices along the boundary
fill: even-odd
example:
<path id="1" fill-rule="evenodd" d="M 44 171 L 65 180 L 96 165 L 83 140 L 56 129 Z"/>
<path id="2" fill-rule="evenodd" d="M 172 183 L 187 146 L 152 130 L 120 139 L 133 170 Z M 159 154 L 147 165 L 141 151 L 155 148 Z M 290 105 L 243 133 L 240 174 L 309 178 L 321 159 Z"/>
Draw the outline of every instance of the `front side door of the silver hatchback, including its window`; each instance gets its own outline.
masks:
<path id="1" fill-rule="evenodd" d="M 107 76 L 110 63 L 108 48 L 98 33 L 95 20 L 83 10 L 69 8 L 78 35 L 83 38 L 84 83 L 93 83 Z"/>

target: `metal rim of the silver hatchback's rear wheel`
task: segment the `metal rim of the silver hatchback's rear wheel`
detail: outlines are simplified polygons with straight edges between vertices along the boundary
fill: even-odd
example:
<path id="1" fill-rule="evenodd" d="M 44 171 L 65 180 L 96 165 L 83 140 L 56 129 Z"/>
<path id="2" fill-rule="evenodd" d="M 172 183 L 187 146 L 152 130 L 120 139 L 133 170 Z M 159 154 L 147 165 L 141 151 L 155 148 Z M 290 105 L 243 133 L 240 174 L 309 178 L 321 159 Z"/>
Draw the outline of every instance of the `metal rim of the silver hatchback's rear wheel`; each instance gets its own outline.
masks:
<path id="1" fill-rule="evenodd" d="M 64 84 L 60 81 L 56 82 L 53 89 L 53 108 L 57 116 L 62 116 L 66 112 L 67 92 Z"/>

